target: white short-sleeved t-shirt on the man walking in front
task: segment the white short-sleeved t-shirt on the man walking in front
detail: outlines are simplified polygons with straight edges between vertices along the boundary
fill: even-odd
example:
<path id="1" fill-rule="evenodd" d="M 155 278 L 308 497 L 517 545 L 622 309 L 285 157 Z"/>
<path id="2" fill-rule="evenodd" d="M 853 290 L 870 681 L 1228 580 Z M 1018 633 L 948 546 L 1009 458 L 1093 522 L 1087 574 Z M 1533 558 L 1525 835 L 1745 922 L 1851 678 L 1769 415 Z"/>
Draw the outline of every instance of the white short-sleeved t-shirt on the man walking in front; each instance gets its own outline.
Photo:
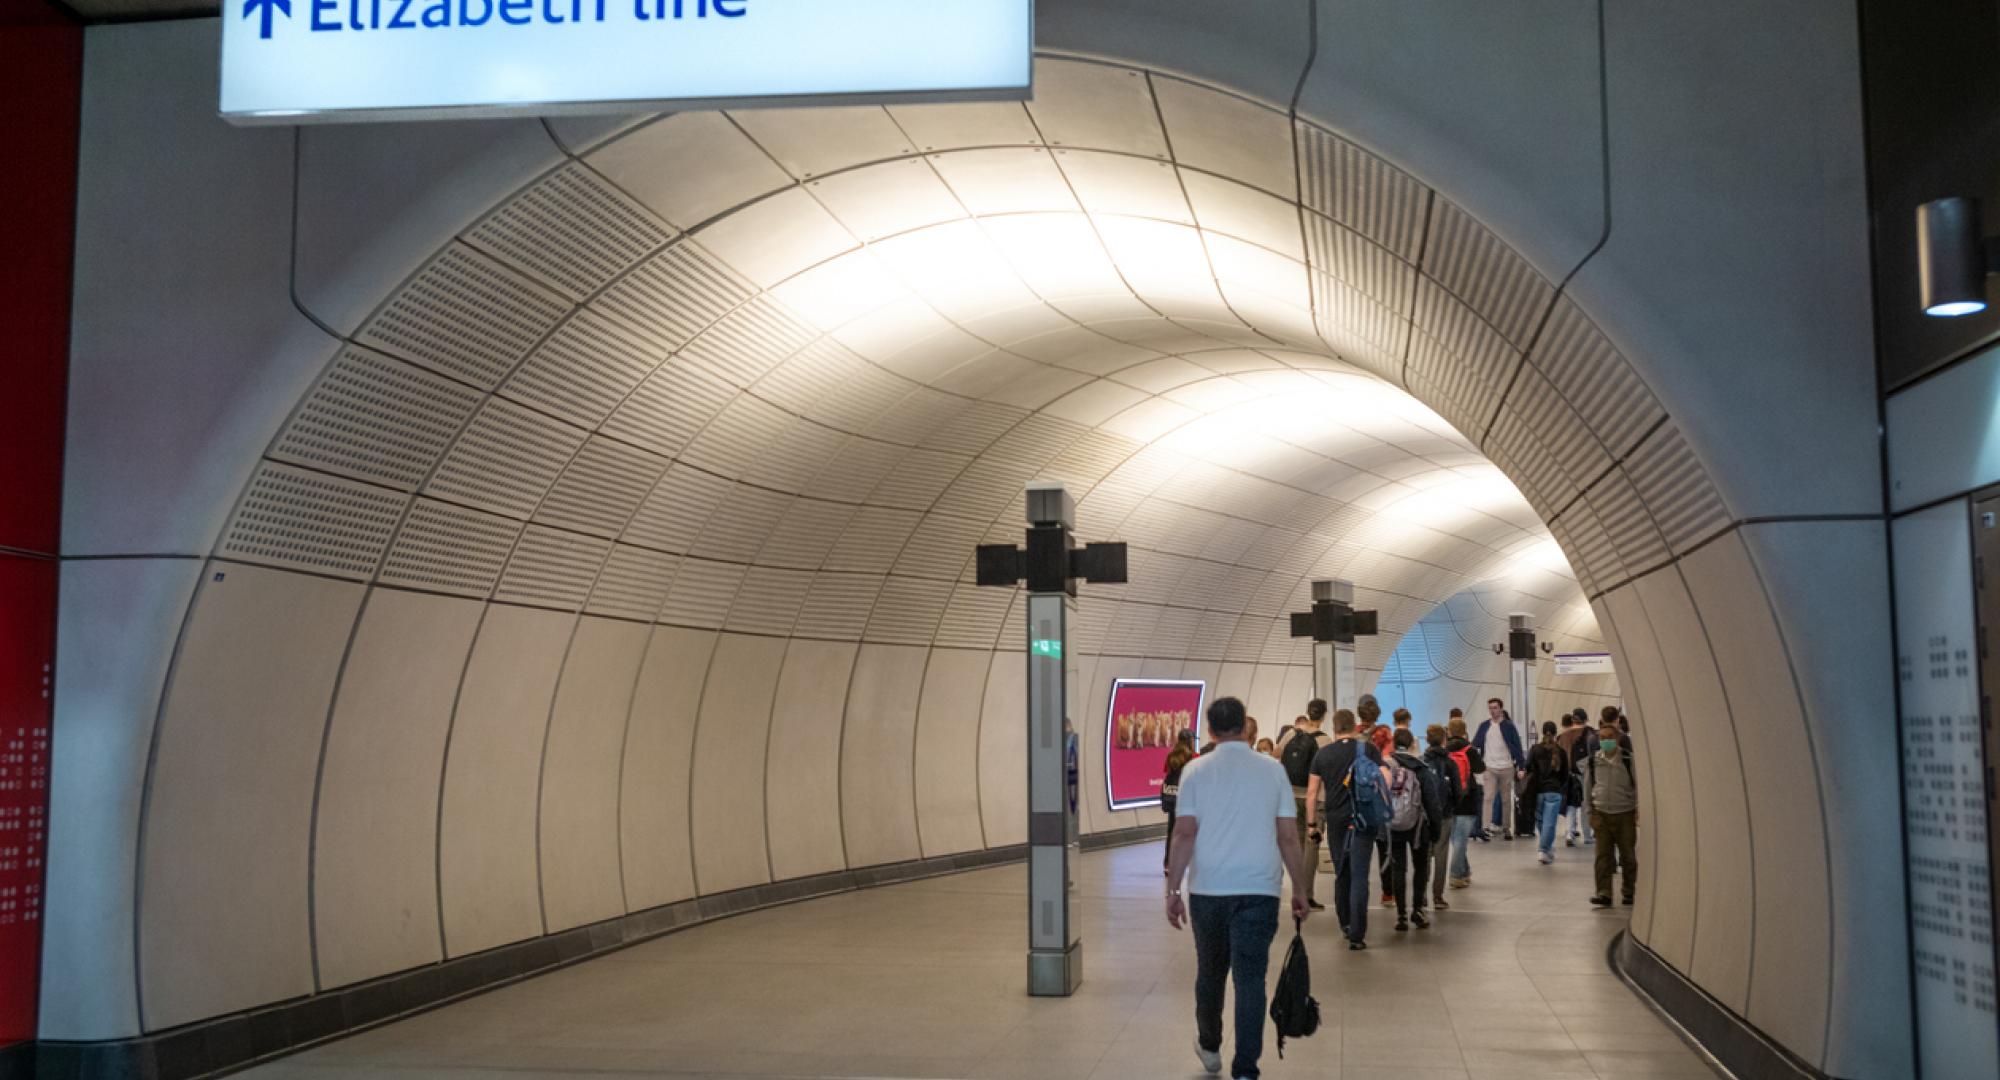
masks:
<path id="1" fill-rule="evenodd" d="M 1292 780 L 1276 758 L 1224 742 L 1188 762 L 1174 814 L 1202 822 L 1188 864 L 1188 892 L 1200 896 L 1282 896 L 1278 818 L 1298 816 Z"/>

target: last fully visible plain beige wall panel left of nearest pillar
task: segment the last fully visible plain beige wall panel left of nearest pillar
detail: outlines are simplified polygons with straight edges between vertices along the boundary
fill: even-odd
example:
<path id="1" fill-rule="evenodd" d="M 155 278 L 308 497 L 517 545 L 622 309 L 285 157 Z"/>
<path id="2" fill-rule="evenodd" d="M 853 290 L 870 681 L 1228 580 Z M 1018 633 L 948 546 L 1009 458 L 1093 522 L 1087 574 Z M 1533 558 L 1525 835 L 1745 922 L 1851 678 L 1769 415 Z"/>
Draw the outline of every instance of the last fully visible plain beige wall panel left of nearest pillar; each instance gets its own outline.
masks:
<path id="1" fill-rule="evenodd" d="M 980 706 L 992 652 L 938 648 L 916 712 L 916 834 L 924 858 L 976 852 L 980 828 Z"/>

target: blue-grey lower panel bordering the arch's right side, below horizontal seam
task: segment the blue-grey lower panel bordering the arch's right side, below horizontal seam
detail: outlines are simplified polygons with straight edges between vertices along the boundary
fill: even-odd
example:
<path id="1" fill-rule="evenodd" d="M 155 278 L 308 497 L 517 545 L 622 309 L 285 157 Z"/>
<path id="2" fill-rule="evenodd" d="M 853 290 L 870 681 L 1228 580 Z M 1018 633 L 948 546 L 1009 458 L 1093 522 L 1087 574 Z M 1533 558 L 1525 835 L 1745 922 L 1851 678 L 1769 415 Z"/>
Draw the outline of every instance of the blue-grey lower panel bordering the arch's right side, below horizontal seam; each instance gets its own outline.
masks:
<path id="1" fill-rule="evenodd" d="M 1798 674 L 1826 794 L 1820 814 L 1836 838 L 1830 846 L 1834 1000 L 1822 1068 L 1834 1076 L 1894 1076 L 1908 1070 L 1910 1026 L 1900 1006 L 1876 1004 L 1908 994 L 1902 878 L 1882 872 L 1902 862 L 1900 822 L 1884 812 L 1898 804 L 1898 784 L 1892 770 L 1854 768 L 1860 760 L 1896 758 L 1888 622 L 1854 618 L 1888 610 L 1884 528 L 1758 524 L 1744 526 L 1742 536 Z"/>

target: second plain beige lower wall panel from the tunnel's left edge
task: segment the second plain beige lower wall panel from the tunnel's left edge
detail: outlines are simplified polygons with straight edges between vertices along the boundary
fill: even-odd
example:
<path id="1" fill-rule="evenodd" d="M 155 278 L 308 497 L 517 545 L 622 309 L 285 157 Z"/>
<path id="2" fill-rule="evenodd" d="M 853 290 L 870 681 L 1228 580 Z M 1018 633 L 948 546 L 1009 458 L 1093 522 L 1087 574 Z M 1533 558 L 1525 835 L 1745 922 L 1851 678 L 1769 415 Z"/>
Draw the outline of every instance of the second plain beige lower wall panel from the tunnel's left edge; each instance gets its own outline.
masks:
<path id="1" fill-rule="evenodd" d="M 376 590 L 342 666 L 312 834 L 320 990 L 442 958 L 438 774 L 480 604 Z"/>

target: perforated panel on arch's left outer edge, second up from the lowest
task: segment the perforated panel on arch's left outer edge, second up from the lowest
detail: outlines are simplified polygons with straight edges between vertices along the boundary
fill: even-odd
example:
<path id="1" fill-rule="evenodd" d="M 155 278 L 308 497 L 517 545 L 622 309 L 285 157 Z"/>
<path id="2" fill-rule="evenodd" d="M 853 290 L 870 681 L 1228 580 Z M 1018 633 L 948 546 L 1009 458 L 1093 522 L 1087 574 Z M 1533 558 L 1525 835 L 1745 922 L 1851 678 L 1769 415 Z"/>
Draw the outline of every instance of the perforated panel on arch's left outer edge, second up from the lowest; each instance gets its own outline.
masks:
<path id="1" fill-rule="evenodd" d="M 460 382 L 348 346 L 270 456 L 414 490 L 478 402 L 480 394 Z"/>

